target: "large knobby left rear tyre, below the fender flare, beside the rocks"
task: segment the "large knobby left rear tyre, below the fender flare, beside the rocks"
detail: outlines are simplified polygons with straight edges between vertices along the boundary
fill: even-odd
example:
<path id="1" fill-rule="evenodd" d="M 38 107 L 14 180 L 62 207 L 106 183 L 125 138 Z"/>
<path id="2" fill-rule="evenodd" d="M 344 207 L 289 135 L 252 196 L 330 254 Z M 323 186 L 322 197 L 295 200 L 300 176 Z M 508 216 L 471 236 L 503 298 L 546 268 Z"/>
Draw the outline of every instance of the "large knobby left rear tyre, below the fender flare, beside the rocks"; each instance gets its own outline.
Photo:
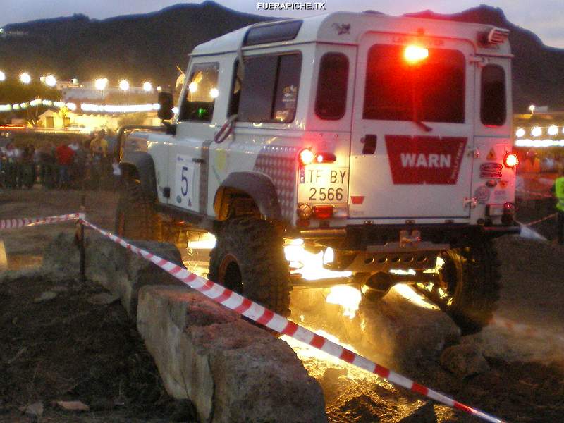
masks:
<path id="1" fill-rule="evenodd" d="M 268 221 L 228 220 L 217 235 L 209 279 L 273 312 L 290 314 L 290 278 L 283 238 Z"/>

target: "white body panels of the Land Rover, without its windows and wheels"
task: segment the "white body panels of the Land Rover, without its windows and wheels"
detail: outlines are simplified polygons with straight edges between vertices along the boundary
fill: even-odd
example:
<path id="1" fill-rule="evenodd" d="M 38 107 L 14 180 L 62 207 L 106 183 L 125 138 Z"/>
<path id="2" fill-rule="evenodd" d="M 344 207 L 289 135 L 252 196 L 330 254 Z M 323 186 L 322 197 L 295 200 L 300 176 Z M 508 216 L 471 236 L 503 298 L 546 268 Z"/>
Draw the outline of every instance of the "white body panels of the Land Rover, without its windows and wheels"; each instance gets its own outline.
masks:
<path id="1" fill-rule="evenodd" d="M 272 24 L 263 26 L 268 25 Z M 214 63 L 219 69 L 218 95 L 209 121 L 183 120 L 180 111 L 175 116 L 176 136 L 136 133 L 130 138 L 147 139 L 160 203 L 212 218 L 217 217 L 215 194 L 226 178 L 252 171 L 271 178 L 282 219 L 291 226 L 300 220 L 298 203 L 335 206 L 338 217 L 322 224 L 331 228 L 366 221 L 483 224 L 486 207 L 513 202 L 515 192 L 515 169 L 503 166 L 511 147 L 511 55 L 508 42 L 481 44 L 480 37 L 492 29 L 443 20 L 333 13 L 303 20 L 291 40 L 245 46 L 249 28 L 243 28 L 196 47 L 190 55 L 180 110 L 193 69 Z M 363 118 L 367 56 L 375 44 L 400 48 L 417 44 L 460 54 L 465 73 L 462 121 L 426 122 L 432 128 L 427 132 L 411 120 Z M 328 52 L 343 54 L 349 69 L 345 112 L 331 120 L 315 112 L 319 66 Z M 223 143 L 213 142 L 228 118 L 239 54 L 247 60 L 288 53 L 301 56 L 295 118 L 289 123 L 236 121 Z M 486 125 L 480 119 L 486 66 L 498 66 L 505 75 L 505 121 L 500 125 Z M 376 139 L 372 154 L 362 152 L 367 135 Z M 304 148 L 334 154 L 336 161 L 300 168 L 297 156 Z M 485 174 L 495 178 L 484 177 L 483 167 L 481 171 L 488 162 L 502 165 L 496 175 Z M 496 185 L 486 186 L 488 180 Z M 494 224 L 499 219 L 489 217 Z M 312 219 L 307 227 L 320 223 Z"/>

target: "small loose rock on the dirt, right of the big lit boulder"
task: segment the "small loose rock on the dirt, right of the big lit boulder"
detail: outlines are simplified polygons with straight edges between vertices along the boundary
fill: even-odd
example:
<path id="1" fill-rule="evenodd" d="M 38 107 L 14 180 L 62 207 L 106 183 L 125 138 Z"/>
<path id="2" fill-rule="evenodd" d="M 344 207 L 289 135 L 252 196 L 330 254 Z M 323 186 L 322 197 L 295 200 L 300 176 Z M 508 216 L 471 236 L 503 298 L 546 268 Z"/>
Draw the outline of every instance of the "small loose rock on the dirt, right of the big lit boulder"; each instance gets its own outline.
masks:
<path id="1" fill-rule="evenodd" d="M 461 379 L 489 370 L 488 362 L 484 358 L 482 350 L 474 343 L 461 343 L 445 348 L 441 353 L 440 362 L 443 369 Z"/>

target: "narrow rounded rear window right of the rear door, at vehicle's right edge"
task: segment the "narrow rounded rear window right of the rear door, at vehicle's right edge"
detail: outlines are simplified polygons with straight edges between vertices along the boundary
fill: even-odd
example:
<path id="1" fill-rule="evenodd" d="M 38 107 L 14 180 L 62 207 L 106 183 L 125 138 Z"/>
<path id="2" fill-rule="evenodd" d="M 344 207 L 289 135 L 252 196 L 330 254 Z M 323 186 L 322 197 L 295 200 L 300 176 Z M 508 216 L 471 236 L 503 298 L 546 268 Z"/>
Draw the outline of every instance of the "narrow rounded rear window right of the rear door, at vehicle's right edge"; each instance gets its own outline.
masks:
<path id="1" fill-rule="evenodd" d="M 507 118 L 505 71 L 498 65 L 482 68 L 480 118 L 484 125 L 501 126 Z"/>

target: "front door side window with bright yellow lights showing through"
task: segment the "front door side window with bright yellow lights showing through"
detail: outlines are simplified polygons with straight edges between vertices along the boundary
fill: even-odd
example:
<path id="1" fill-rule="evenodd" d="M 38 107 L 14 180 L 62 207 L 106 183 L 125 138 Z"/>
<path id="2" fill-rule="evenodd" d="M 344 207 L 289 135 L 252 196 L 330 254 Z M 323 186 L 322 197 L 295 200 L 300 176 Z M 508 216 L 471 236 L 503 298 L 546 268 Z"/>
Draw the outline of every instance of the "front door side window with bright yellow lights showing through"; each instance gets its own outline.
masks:
<path id="1" fill-rule="evenodd" d="M 212 121 L 215 99 L 219 95 L 218 75 L 219 63 L 194 65 L 180 109 L 180 121 Z"/>

